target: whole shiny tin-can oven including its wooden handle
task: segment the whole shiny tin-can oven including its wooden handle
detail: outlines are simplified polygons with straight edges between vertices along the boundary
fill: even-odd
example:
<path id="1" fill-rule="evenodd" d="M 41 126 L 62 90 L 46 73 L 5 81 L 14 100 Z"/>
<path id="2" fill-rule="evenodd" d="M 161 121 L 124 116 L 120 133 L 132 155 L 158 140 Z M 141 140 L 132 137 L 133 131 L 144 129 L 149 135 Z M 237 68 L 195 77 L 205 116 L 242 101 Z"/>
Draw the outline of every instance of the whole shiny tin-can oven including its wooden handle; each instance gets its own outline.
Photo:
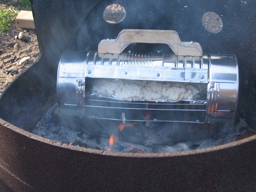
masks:
<path id="1" fill-rule="evenodd" d="M 153 42 L 153 38 L 149 38 L 152 34 L 156 39 Z M 174 53 L 125 49 L 133 42 L 159 41 L 168 44 Z M 157 87 L 166 87 L 168 84 L 164 91 L 172 89 L 169 91 L 171 95 L 181 89 L 184 93 L 179 94 L 183 95 L 195 90 L 199 93 L 174 100 L 168 99 L 172 96 L 165 93 L 160 100 L 145 99 L 146 96 L 120 99 L 116 92 L 98 94 L 97 90 L 94 91 L 99 79 L 109 82 L 105 84 L 106 90 L 111 83 L 121 81 L 122 86 L 155 83 Z M 112 120 L 125 118 L 127 121 L 215 123 L 233 122 L 238 82 L 238 62 L 234 55 L 202 54 L 197 42 L 181 42 L 175 31 L 123 30 L 117 39 L 102 40 L 98 51 L 65 51 L 59 61 L 57 91 L 63 115 Z M 175 86 L 178 86 L 178 91 Z M 152 89 L 152 86 L 148 87 Z M 131 92 L 133 89 L 135 87 Z"/>

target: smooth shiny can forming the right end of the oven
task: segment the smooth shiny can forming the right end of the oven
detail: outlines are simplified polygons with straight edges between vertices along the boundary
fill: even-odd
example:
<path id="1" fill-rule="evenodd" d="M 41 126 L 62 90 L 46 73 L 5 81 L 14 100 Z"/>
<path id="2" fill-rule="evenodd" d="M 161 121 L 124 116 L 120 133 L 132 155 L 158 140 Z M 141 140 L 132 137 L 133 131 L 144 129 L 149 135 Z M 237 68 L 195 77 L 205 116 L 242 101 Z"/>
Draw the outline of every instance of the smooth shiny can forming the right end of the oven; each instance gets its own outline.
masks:
<path id="1" fill-rule="evenodd" d="M 233 122 L 238 103 L 238 62 L 234 55 L 209 55 L 206 122 Z"/>

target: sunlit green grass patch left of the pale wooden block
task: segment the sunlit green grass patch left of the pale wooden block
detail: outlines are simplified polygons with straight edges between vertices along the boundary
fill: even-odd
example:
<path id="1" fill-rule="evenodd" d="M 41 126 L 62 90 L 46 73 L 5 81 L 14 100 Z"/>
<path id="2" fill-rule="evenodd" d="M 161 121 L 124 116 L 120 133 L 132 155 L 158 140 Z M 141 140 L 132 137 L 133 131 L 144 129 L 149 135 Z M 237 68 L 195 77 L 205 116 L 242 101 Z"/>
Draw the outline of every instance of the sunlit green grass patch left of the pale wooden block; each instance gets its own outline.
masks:
<path id="1" fill-rule="evenodd" d="M 0 31 L 7 31 L 17 14 L 17 10 L 11 7 L 7 10 L 0 9 Z"/>

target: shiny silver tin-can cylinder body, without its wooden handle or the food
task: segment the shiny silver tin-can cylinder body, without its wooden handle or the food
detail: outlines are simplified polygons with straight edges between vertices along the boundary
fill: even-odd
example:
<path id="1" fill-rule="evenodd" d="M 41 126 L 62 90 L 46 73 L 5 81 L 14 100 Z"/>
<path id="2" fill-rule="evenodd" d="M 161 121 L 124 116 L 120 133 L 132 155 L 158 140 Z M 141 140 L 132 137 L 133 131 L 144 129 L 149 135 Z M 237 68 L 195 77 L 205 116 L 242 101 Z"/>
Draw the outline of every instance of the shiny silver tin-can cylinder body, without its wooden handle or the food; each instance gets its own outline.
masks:
<path id="1" fill-rule="evenodd" d="M 99 98 L 91 95 L 94 78 L 207 83 L 207 99 L 148 103 Z M 238 63 L 234 55 L 66 51 L 59 61 L 57 81 L 63 115 L 122 120 L 125 113 L 131 121 L 215 123 L 233 122 L 236 114 Z M 154 115 L 144 119 L 150 111 Z"/>

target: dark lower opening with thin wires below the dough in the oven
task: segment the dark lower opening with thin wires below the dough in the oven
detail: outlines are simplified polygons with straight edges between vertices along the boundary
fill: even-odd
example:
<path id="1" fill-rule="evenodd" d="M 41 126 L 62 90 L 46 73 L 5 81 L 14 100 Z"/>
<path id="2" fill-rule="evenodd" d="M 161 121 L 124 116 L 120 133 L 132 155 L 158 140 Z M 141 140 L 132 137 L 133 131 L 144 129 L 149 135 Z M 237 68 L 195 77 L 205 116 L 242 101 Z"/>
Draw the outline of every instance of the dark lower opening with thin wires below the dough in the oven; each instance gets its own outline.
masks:
<path id="1" fill-rule="evenodd" d="M 126 121 L 205 122 L 206 102 L 118 101 L 90 96 L 85 104 L 86 117 Z"/>

